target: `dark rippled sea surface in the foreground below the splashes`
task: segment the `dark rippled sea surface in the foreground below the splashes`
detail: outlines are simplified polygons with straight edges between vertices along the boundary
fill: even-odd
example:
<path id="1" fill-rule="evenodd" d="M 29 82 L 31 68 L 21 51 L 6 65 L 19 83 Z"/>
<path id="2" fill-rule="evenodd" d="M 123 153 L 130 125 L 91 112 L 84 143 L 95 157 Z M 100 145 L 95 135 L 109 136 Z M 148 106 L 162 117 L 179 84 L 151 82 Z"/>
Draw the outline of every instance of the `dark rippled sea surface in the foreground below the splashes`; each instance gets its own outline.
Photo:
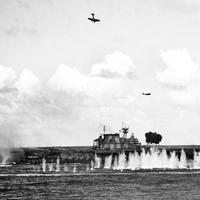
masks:
<path id="1" fill-rule="evenodd" d="M 199 170 L 43 172 L 0 167 L 0 200 L 200 199 Z"/>

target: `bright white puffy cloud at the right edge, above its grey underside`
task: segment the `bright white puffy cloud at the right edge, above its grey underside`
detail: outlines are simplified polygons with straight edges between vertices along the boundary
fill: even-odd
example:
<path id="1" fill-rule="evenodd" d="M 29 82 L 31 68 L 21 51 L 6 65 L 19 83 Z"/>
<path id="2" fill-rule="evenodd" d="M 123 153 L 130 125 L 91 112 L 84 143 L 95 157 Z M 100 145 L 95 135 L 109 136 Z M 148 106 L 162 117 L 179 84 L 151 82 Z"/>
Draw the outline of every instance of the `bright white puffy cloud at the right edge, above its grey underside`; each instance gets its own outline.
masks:
<path id="1" fill-rule="evenodd" d="M 156 79 L 159 83 L 186 87 L 197 77 L 199 67 L 192 61 L 187 49 L 162 51 L 161 57 L 167 69 L 163 72 L 156 71 Z"/>

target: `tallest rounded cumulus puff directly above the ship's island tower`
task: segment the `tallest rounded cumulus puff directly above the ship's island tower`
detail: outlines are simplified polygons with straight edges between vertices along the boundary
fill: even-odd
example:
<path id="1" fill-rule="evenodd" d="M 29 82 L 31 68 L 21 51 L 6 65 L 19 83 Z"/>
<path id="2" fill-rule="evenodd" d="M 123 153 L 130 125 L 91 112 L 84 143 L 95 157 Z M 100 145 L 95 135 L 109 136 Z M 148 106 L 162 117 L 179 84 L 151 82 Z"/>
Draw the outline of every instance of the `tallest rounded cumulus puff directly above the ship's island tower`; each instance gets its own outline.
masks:
<path id="1" fill-rule="evenodd" d="M 133 101 L 135 65 L 121 52 L 105 56 L 105 62 L 94 64 L 87 76 L 86 93 L 97 97 L 112 98 L 121 104 Z M 109 100 L 107 99 L 107 103 Z"/>

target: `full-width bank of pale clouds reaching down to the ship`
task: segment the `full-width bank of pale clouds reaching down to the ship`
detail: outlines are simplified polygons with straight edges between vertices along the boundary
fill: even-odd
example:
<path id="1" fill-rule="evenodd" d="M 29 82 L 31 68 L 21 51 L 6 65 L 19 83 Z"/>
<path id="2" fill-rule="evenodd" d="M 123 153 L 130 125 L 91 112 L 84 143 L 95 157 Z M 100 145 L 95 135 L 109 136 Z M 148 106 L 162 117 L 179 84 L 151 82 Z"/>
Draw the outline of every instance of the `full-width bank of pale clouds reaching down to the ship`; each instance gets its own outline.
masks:
<path id="1" fill-rule="evenodd" d="M 174 57 L 164 53 L 162 56 L 167 69 L 171 67 L 170 73 L 178 74 L 181 59 L 170 62 Z M 126 58 L 123 54 L 119 55 Z M 111 60 L 114 58 L 120 60 L 118 56 L 111 56 Z M 114 60 L 105 60 L 106 67 L 99 64 L 101 70 L 96 71 L 96 75 L 92 75 L 93 68 L 85 75 L 78 69 L 60 65 L 48 80 L 48 87 L 41 85 L 30 70 L 24 69 L 14 82 L 15 72 L 9 68 L 0 68 L 0 71 L 4 69 L 1 74 L 6 74 L 4 78 L 0 78 L 0 125 L 4 125 L 7 130 L 7 136 L 2 131 L 0 138 L 9 145 L 90 145 L 98 137 L 103 125 L 110 127 L 107 131 L 114 133 L 119 130 L 122 121 L 131 126 L 131 131 L 142 142 L 147 131 L 161 133 L 165 138 L 164 142 L 169 143 L 175 137 L 173 134 L 178 131 L 183 138 L 191 128 L 191 124 L 186 122 L 194 113 L 198 113 L 198 106 L 192 105 L 198 102 L 197 93 L 200 88 L 191 80 L 185 82 L 187 84 L 184 84 L 184 90 L 174 90 L 172 83 L 178 83 L 174 79 L 172 83 L 166 82 L 163 78 L 162 84 L 168 84 L 171 88 L 163 90 L 154 87 L 151 96 L 143 96 L 143 82 L 127 75 L 130 71 L 134 73 L 132 61 L 123 61 L 113 69 L 118 63 L 115 65 Z M 185 65 L 186 72 L 182 77 L 195 74 L 196 65 L 189 61 L 187 62 L 193 67 L 189 70 L 188 65 Z M 107 77 L 104 76 L 105 71 L 109 72 Z M 165 70 L 159 73 L 165 73 Z M 181 106 L 171 106 L 171 101 Z M 197 111 L 191 111 L 191 107 L 195 107 Z M 181 113 L 188 115 L 188 118 L 184 118 Z M 199 116 L 197 119 L 199 120 Z M 183 130 L 185 124 L 187 131 Z M 16 138 L 20 139 L 14 144 Z"/>

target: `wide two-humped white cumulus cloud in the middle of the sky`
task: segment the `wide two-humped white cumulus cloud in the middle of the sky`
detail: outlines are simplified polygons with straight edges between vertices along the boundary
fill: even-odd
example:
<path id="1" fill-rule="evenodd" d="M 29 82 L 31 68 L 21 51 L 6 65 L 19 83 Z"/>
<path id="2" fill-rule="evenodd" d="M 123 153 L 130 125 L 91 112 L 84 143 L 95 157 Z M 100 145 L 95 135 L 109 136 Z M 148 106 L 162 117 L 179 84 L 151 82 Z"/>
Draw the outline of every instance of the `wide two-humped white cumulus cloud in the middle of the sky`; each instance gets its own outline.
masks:
<path id="1" fill-rule="evenodd" d="M 131 102 L 129 93 L 133 88 L 130 77 L 135 70 L 131 58 L 115 52 L 107 55 L 105 61 L 93 65 L 88 75 L 62 64 L 49 79 L 48 86 L 55 90 L 83 92 L 100 101 L 107 96 L 121 99 L 121 103 Z M 129 95 L 124 98 L 127 94 Z"/>

